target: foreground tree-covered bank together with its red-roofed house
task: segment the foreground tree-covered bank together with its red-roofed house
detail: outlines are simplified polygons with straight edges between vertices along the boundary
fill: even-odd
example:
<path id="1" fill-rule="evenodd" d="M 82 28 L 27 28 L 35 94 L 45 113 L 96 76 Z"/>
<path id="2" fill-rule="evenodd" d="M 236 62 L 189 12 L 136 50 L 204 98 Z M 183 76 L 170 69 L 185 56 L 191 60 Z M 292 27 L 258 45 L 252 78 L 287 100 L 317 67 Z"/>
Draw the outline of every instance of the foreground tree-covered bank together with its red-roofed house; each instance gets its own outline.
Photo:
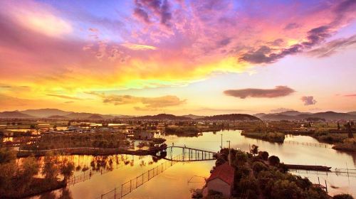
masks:
<path id="1" fill-rule="evenodd" d="M 277 156 L 262 151 L 258 156 L 235 149 L 221 149 L 211 176 L 202 189 L 194 190 L 192 198 L 339 198 L 328 195 L 323 185 L 308 178 L 288 173 Z M 230 157 L 230 158 L 228 158 Z M 224 168 L 224 169 L 221 169 Z M 234 172 L 230 172 L 233 169 Z M 216 178 L 228 181 L 217 185 Z M 231 188 L 232 191 L 227 191 Z M 345 194 L 343 194 L 345 196 Z M 351 195 L 346 195 L 352 198 Z"/>

